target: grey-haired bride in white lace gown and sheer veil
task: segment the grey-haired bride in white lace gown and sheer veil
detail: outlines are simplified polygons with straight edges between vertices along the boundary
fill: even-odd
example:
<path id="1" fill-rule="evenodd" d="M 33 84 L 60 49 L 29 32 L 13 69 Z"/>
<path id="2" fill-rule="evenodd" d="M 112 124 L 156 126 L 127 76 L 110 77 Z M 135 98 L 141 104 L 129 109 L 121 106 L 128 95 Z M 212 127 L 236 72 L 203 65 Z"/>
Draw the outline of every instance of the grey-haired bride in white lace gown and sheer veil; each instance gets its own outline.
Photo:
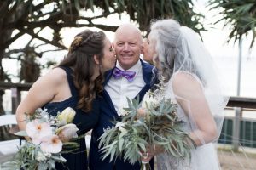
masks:
<path id="1" fill-rule="evenodd" d="M 176 20 L 158 20 L 148 35 L 148 53 L 166 80 L 165 97 L 177 102 L 177 116 L 185 122 L 196 148 L 191 159 L 175 158 L 159 147 L 148 150 L 143 161 L 156 156 L 158 170 L 220 169 L 216 142 L 228 98 L 222 93 L 210 55 L 200 37 Z"/>

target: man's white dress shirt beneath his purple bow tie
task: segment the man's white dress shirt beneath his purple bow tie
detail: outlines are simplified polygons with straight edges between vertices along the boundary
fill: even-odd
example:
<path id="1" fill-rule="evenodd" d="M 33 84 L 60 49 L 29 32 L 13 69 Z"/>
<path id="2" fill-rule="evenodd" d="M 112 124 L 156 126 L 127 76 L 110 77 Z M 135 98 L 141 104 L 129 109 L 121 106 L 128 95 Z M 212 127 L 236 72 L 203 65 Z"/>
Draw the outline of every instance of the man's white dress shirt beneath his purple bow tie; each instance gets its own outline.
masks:
<path id="1" fill-rule="evenodd" d="M 117 62 L 117 68 L 124 71 L 124 69 Z M 141 89 L 146 85 L 143 79 L 143 69 L 140 60 L 136 65 L 133 65 L 128 71 L 136 71 L 133 82 L 129 82 L 125 77 L 115 79 L 113 76 L 108 81 L 105 89 L 112 99 L 115 110 L 118 115 L 124 113 L 123 108 L 128 107 L 127 99 L 134 99 Z"/>

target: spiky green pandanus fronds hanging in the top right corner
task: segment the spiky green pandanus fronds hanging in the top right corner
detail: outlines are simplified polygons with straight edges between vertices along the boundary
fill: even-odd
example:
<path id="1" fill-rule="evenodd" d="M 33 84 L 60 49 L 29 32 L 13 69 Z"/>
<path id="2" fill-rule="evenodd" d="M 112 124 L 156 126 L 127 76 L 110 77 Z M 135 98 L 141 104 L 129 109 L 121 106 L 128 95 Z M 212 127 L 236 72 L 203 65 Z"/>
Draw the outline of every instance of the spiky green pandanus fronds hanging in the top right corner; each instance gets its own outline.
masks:
<path id="1" fill-rule="evenodd" d="M 250 48 L 256 37 L 256 1 L 255 0 L 211 0 L 211 9 L 218 8 L 220 15 L 223 17 L 216 23 L 224 21 L 225 26 L 231 26 L 228 42 L 234 38 L 241 41 L 252 33 L 253 38 Z"/>

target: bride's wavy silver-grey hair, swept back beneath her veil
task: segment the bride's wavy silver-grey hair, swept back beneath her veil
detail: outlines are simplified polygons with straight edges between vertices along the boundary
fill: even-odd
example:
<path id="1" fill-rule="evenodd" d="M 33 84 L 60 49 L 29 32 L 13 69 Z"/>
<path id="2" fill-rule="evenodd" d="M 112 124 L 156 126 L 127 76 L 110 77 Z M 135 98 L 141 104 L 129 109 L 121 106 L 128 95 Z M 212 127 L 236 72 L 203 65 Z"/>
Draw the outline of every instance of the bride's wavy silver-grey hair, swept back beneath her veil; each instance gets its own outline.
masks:
<path id="1" fill-rule="evenodd" d="M 151 23 L 150 37 L 155 40 L 155 51 L 157 51 L 154 61 L 159 59 L 161 74 L 166 81 L 172 77 L 180 27 L 176 20 L 158 20 Z"/>

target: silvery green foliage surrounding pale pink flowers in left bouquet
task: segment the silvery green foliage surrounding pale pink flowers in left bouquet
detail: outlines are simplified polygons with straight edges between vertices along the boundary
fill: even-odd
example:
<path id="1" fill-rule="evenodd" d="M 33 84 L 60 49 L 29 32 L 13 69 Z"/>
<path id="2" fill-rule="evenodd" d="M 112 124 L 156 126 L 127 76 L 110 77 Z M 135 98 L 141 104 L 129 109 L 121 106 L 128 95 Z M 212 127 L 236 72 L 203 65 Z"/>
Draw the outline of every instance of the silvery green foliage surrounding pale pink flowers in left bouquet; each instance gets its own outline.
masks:
<path id="1" fill-rule="evenodd" d="M 65 111 L 65 110 L 64 110 Z M 63 112 L 63 111 L 62 111 Z M 58 113 L 57 116 L 60 116 L 61 113 Z M 50 116 L 47 110 L 38 109 L 35 114 L 32 116 L 26 115 L 26 122 L 30 123 L 35 119 L 38 122 L 47 122 L 48 125 L 51 127 L 50 131 L 53 134 L 58 135 L 61 133 L 61 128 L 63 127 L 71 127 L 72 123 L 67 124 L 67 122 L 62 123 L 61 119 L 58 119 L 57 116 Z M 65 113 L 65 116 L 69 116 L 68 113 Z M 72 114 L 73 116 L 73 114 Z M 62 116 L 63 117 L 63 116 Z M 65 117 L 64 117 L 65 118 Z M 61 123 L 60 123 L 61 122 Z M 27 125 L 28 126 L 28 125 Z M 72 126 L 73 128 L 77 128 L 75 125 Z M 73 129 L 70 128 L 68 132 L 71 132 Z M 78 129 L 76 129 L 78 130 Z M 20 131 L 15 133 L 18 136 L 29 136 L 26 131 Z M 67 135 L 65 131 L 62 132 L 63 134 Z M 76 133 L 76 131 L 75 131 Z M 29 136 L 31 139 L 32 137 Z M 77 139 L 84 138 L 83 136 L 79 136 L 78 138 L 71 139 L 68 142 L 61 141 L 61 150 L 58 152 L 51 152 L 42 149 L 42 144 L 44 141 L 41 141 L 39 144 L 33 143 L 33 140 L 26 141 L 18 148 L 18 152 L 15 154 L 13 160 L 8 161 L 1 165 L 3 169 L 22 169 L 22 170 L 48 170 L 48 169 L 55 169 L 55 162 L 66 162 L 66 159 L 61 156 L 62 153 L 69 153 L 79 148 L 79 143 L 76 142 Z"/>

